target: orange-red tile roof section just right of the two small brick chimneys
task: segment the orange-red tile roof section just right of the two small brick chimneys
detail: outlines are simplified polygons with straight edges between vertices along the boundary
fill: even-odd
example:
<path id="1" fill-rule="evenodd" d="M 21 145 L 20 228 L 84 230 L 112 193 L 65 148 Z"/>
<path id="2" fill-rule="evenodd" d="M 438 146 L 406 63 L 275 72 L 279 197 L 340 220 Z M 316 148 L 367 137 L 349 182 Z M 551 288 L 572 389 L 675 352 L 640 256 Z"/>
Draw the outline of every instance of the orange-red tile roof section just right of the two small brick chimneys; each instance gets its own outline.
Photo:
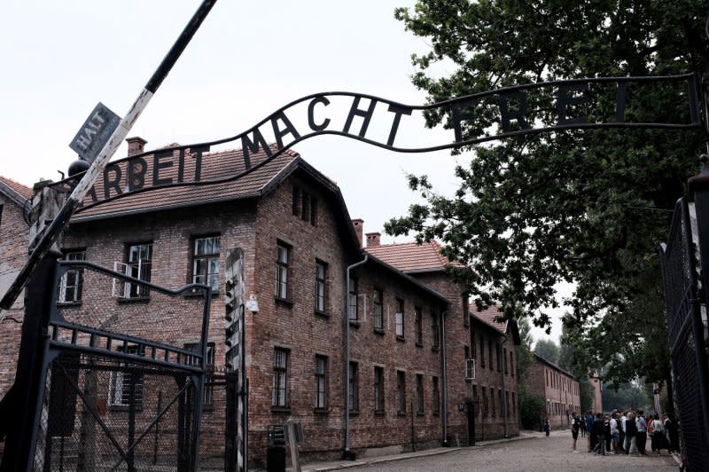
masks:
<path id="1" fill-rule="evenodd" d="M 448 258 L 440 254 L 440 244 L 427 241 L 422 244 L 406 242 L 402 244 L 383 244 L 366 248 L 372 256 L 406 273 L 445 271 L 451 264 Z M 463 264 L 452 263 L 456 267 Z"/>

